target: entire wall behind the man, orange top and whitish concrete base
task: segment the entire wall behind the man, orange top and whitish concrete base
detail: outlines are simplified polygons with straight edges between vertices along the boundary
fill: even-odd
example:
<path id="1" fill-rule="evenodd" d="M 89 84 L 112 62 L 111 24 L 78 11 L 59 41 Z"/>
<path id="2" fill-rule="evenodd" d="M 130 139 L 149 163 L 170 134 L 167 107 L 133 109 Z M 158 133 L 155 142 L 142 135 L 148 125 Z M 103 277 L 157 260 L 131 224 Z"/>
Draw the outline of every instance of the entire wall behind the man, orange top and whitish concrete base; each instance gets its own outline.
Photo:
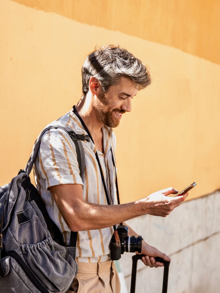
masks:
<path id="1" fill-rule="evenodd" d="M 172 255 L 173 293 L 219 288 L 219 6 L 215 0 L 0 1 L 0 185 L 24 168 L 40 130 L 77 103 L 80 70 L 95 45 L 118 43 L 149 66 L 152 84 L 115 129 L 119 188 L 121 202 L 130 202 L 197 182 L 190 201 L 169 217 L 130 221 Z M 130 261 L 129 254 L 121 260 L 127 285 Z M 162 269 L 140 265 L 138 274 L 139 292 L 160 292 Z"/>

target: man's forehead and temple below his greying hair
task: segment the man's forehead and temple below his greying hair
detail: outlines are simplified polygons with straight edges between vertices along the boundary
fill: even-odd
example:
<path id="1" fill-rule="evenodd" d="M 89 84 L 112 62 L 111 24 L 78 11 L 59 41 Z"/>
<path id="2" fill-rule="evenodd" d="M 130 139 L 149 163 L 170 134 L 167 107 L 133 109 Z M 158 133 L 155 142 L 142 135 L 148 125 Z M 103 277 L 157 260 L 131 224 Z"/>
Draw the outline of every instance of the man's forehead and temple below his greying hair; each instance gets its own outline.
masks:
<path id="1" fill-rule="evenodd" d="M 135 87 L 131 79 L 121 76 L 119 82 L 114 86 L 110 86 L 108 92 L 114 94 L 128 94 L 128 96 L 133 97 L 138 92 L 138 89 Z"/>

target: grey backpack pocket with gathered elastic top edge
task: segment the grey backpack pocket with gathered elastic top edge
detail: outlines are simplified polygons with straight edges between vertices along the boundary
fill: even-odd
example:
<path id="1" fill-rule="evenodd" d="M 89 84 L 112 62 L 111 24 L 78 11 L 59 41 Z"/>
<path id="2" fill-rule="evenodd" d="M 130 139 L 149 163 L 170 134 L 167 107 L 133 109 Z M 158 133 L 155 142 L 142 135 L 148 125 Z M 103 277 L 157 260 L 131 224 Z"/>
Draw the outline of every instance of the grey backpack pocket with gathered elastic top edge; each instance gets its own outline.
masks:
<path id="1" fill-rule="evenodd" d="M 72 285 L 77 271 L 75 247 L 65 248 L 47 238 L 36 244 L 20 245 L 20 248 L 28 267 L 51 292 L 60 292 Z"/>

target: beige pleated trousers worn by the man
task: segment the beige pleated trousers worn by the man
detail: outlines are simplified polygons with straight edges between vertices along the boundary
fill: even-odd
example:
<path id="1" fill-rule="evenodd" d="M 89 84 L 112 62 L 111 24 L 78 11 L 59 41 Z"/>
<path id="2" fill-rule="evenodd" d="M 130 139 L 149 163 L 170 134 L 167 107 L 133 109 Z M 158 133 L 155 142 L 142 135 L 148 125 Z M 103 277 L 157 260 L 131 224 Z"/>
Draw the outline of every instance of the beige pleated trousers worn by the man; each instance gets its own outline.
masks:
<path id="1" fill-rule="evenodd" d="M 120 293 L 114 262 L 78 263 L 78 273 L 68 293 Z"/>

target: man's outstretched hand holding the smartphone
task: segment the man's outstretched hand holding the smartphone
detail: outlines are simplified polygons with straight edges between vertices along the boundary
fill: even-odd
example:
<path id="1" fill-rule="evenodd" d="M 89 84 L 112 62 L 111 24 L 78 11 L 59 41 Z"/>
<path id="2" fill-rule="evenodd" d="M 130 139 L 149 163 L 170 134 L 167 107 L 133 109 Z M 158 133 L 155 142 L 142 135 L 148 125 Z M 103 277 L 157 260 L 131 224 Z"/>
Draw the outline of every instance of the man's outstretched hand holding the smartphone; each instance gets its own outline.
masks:
<path id="1" fill-rule="evenodd" d="M 178 190 L 169 187 L 150 194 L 148 197 L 140 200 L 140 202 L 144 203 L 143 209 L 146 214 L 166 217 L 172 212 L 173 209 L 175 209 L 175 207 L 178 207 L 189 194 L 187 192 L 177 197 L 167 197 L 169 194 L 176 193 L 178 193 Z"/>

